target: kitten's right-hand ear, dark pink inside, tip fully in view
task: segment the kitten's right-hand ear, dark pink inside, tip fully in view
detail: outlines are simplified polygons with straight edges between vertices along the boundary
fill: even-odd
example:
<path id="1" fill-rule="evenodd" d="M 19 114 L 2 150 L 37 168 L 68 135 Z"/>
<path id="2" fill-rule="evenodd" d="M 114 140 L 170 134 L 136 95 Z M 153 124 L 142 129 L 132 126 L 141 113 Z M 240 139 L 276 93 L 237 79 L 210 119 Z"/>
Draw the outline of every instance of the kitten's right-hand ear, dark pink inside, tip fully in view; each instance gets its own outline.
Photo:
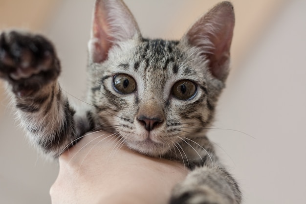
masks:
<path id="1" fill-rule="evenodd" d="M 229 71 L 234 24 L 233 5 L 224 1 L 202 16 L 181 40 L 197 47 L 199 54 L 209 60 L 210 73 L 221 81 Z"/>

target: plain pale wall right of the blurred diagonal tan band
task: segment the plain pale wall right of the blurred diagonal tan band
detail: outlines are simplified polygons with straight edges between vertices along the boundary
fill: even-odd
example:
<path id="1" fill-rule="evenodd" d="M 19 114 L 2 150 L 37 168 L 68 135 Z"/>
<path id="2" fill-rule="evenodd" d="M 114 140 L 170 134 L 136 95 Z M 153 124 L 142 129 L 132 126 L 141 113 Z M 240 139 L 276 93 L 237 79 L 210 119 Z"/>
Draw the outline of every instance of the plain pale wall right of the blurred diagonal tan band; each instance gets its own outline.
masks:
<path id="1" fill-rule="evenodd" d="M 305 9 L 305 0 L 288 2 L 220 101 L 216 126 L 255 137 L 218 133 L 246 204 L 306 204 Z"/>

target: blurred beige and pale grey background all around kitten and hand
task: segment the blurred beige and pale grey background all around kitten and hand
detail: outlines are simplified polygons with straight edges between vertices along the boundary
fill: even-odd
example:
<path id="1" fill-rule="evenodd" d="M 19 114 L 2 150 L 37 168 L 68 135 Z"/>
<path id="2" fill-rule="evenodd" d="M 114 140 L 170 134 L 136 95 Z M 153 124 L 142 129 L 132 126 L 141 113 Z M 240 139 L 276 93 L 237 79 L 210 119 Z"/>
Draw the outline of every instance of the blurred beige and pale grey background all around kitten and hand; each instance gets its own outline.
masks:
<path id="1" fill-rule="evenodd" d="M 125 0 L 146 37 L 178 39 L 217 0 Z M 245 204 L 306 202 L 306 1 L 232 0 L 232 72 L 210 138 Z M 81 98 L 94 0 L 0 0 L 0 29 L 48 36 Z M 233 129 L 246 134 L 231 131 Z M 58 166 L 30 147 L 0 82 L 0 204 L 50 204 Z"/>

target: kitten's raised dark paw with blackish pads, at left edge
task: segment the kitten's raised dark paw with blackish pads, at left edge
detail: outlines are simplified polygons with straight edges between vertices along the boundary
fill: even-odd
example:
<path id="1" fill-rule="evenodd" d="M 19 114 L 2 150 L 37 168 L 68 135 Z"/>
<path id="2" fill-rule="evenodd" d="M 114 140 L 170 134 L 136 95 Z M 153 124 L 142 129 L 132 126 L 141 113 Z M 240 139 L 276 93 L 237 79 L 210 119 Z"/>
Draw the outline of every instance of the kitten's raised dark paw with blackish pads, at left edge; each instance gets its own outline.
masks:
<path id="1" fill-rule="evenodd" d="M 41 35 L 0 34 L 0 78 L 18 95 L 29 95 L 57 79 L 60 64 L 53 45 Z"/>

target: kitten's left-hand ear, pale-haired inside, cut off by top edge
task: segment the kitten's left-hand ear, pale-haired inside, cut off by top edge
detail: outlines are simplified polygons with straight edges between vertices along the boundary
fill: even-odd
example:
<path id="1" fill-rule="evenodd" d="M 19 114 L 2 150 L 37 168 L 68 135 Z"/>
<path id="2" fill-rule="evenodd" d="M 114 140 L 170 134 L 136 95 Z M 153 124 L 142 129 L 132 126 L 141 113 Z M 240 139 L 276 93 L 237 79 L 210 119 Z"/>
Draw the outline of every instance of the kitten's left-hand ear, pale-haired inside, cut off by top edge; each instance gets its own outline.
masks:
<path id="1" fill-rule="evenodd" d="M 107 59 L 109 49 L 116 43 L 140 37 L 138 25 L 122 0 L 96 0 L 89 58 L 93 63 Z"/>

